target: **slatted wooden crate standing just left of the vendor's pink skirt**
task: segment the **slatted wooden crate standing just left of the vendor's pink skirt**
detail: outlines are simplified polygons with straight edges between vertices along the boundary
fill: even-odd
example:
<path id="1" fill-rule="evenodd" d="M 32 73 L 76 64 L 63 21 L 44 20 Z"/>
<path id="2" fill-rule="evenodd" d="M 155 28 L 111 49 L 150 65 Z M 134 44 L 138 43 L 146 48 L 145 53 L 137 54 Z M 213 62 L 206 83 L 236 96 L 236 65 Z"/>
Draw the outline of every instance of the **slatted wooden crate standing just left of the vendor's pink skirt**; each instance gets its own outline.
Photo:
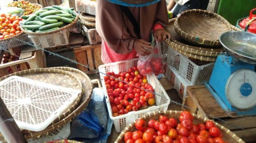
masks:
<path id="1" fill-rule="evenodd" d="M 95 70 L 98 70 L 98 66 L 103 64 L 101 60 L 101 44 L 81 46 L 79 48 L 73 48 L 73 50 L 76 62 L 90 67 L 87 68 L 76 64 L 79 70 L 84 71 L 88 75 L 98 73 Z"/>

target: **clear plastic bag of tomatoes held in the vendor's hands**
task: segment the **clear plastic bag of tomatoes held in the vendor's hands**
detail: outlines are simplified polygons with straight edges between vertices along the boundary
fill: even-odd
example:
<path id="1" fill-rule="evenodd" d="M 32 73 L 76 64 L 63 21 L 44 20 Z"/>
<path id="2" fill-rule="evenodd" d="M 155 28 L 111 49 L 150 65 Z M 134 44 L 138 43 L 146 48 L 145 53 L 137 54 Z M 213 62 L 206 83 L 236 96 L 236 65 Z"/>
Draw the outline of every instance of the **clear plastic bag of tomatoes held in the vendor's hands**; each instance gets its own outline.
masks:
<path id="1" fill-rule="evenodd" d="M 150 55 L 139 57 L 137 66 L 142 75 L 151 75 L 153 73 L 158 75 L 163 73 L 161 44 L 156 43 Z"/>

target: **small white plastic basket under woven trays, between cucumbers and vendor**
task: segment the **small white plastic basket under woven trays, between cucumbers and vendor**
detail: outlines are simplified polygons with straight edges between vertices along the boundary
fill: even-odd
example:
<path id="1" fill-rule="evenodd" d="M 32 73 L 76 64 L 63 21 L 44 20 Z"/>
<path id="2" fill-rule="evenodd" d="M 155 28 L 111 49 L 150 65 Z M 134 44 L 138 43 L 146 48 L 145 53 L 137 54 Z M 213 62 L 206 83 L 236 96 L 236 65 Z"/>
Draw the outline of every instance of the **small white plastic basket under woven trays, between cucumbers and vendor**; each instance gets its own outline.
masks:
<path id="1" fill-rule="evenodd" d="M 85 32 L 85 36 L 87 37 L 90 45 L 96 45 L 97 43 L 101 42 L 102 39 L 96 29 L 87 29 L 85 25 L 83 25 L 83 30 Z"/>

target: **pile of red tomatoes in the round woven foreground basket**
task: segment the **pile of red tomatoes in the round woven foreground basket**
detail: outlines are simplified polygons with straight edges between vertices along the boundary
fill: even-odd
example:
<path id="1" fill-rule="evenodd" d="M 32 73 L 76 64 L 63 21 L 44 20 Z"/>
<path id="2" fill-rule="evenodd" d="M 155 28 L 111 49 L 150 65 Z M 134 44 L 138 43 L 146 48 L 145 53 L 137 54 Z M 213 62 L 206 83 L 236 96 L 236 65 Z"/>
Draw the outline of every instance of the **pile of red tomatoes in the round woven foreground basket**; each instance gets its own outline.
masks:
<path id="1" fill-rule="evenodd" d="M 212 121 L 193 124 L 193 116 L 182 111 L 179 117 L 160 115 L 159 120 L 136 120 L 134 132 L 125 132 L 125 143 L 227 143 L 222 132 Z"/>

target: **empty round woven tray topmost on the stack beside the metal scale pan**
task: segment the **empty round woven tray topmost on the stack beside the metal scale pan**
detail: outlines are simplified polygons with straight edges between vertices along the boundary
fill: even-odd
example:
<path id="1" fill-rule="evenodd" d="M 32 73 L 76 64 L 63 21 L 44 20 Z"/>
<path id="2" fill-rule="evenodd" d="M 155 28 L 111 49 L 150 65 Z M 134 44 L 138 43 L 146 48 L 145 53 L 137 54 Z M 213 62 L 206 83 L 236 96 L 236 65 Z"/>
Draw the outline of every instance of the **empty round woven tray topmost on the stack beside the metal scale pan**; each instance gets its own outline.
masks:
<path id="1" fill-rule="evenodd" d="M 182 12 L 174 22 L 175 31 L 192 44 L 216 47 L 220 46 L 219 37 L 230 31 L 230 23 L 222 16 L 200 9 Z"/>

